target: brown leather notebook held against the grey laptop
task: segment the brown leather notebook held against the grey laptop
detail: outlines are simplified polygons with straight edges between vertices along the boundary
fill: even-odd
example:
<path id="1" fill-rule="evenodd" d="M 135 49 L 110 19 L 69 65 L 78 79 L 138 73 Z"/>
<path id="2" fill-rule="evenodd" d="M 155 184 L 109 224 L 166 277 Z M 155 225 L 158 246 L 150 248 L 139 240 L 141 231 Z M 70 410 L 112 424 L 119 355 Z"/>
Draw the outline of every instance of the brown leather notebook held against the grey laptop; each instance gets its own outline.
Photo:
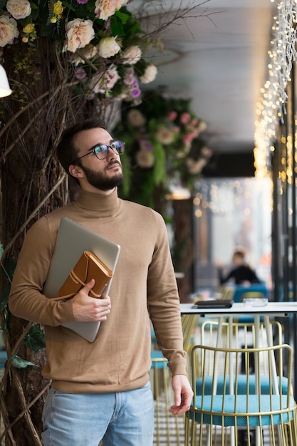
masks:
<path id="1" fill-rule="evenodd" d="M 53 300 L 57 301 L 75 296 L 90 279 L 95 279 L 95 285 L 90 290 L 90 296 L 99 298 L 112 277 L 113 272 L 95 254 L 84 251 L 59 289 L 59 297 L 53 298 Z"/>

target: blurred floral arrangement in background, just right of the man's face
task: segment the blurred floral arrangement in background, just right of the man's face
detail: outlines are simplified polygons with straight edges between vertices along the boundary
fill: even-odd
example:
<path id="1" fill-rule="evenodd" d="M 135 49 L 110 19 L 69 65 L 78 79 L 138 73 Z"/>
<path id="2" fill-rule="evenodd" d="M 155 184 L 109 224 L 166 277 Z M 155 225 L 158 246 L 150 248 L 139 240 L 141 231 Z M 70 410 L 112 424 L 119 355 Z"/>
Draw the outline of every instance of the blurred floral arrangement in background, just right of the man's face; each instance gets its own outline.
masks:
<path id="1" fill-rule="evenodd" d="M 125 197 L 153 206 L 156 194 L 170 194 L 172 185 L 190 190 L 201 175 L 212 150 L 201 138 L 207 125 L 190 102 L 147 90 L 140 105 L 123 109 L 113 133 L 126 143 Z"/>

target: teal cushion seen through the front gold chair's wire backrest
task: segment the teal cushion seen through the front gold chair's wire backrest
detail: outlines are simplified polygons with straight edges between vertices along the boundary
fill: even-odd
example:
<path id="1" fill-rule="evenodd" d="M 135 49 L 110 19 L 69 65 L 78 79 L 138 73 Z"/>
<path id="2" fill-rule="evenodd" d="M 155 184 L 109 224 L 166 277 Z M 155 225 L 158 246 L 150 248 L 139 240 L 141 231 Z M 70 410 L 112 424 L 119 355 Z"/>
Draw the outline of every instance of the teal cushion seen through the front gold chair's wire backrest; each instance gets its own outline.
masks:
<path id="1" fill-rule="evenodd" d="M 224 375 L 218 375 L 217 377 L 217 394 L 221 394 L 224 391 Z M 278 378 L 279 383 L 280 378 Z M 226 390 L 225 393 L 229 390 L 229 375 L 226 376 L 225 380 L 225 386 Z M 204 378 L 204 395 L 211 395 L 212 394 L 212 383 L 213 383 L 213 377 L 207 376 Z M 235 378 L 234 378 L 234 385 L 235 385 Z M 256 381 L 255 381 L 255 375 L 249 375 L 249 393 L 256 393 Z M 288 393 L 288 378 L 283 376 L 281 378 L 281 392 L 286 395 Z M 197 395 L 202 395 L 202 378 L 198 378 L 196 381 L 196 393 Z M 238 375 L 237 376 L 237 393 L 239 395 L 245 395 L 246 394 L 246 375 Z M 268 376 L 261 376 L 261 394 L 269 395 L 269 377 Z"/>

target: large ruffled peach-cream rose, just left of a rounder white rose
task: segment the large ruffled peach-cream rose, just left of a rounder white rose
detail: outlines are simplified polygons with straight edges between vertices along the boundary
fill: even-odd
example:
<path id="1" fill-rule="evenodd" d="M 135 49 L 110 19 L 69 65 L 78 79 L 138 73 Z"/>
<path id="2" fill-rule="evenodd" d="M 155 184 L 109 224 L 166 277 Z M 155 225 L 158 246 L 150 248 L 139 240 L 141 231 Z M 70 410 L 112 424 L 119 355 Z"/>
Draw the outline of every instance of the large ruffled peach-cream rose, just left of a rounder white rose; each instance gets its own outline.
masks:
<path id="1" fill-rule="evenodd" d="M 78 48 L 84 48 L 94 38 L 93 22 L 91 20 L 74 19 L 66 25 L 66 49 L 75 53 Z"/>

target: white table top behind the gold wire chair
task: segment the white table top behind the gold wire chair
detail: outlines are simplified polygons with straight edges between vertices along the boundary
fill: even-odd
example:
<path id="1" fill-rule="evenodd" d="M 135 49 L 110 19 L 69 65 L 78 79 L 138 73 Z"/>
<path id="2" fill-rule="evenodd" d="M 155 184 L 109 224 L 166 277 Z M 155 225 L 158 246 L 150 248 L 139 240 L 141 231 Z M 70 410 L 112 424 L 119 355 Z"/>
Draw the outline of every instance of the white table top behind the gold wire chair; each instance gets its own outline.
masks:
<path id="1" fill-rule="evenodd" d="M 270 316 L 288 316 L 297 313 L 297 302 L 268 302 L 264 306 L 234 303 L 231 308 L 192 308 L 193 304 L 180 304 L 182 314 L 199 314 L 200 316 L 239 316 L 261 314 Z"/>

